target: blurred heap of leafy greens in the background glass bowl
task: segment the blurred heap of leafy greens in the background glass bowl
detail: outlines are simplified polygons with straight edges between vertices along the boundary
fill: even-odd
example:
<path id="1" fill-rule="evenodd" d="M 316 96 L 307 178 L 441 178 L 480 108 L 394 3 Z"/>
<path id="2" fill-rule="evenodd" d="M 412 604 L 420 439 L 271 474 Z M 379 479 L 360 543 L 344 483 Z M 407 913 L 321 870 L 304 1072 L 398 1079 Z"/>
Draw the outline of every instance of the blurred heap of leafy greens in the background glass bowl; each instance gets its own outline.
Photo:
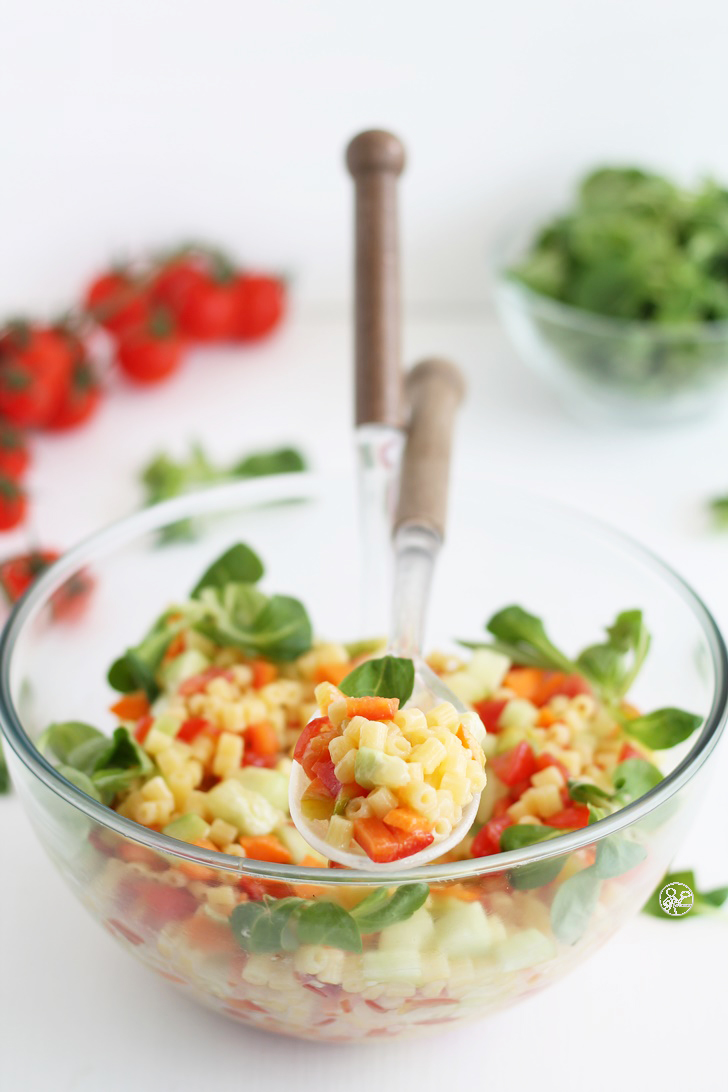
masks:
<path id="1" fill-rule="evenodd" d="M 597 169 L 509 274 L 592 316 L 649 323 L 652 335 L 536 317 L 593 381 L 657 395 L 728 364 L 728 335 L 701 339 L 728 320 L 728 190 L 714 181 L 689 190 L 636 167 Z"/>

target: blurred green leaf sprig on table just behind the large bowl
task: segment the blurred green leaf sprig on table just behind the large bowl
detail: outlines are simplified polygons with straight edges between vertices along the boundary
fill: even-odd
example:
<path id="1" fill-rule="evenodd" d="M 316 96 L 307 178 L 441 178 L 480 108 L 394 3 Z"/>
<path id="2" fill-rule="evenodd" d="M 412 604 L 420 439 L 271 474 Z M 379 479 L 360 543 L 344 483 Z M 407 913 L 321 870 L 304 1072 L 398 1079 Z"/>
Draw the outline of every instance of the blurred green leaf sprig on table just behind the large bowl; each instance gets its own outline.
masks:
<path id="1" fill-rule="evenodd" d="M 187 459 L 172 459 L 167 453 L 155 455 L 142 470 L 141 482 L 145 490 L 145 505 L 157 505 L 193 489 L 243 478 L 265 477 L 271 474 L 293 474 L 305 471 L 306 460 L 296 448 L 277 448 L 260 451 L 236 460 L 231 466 L 216 466 L 199 443 L 193 443 Z M 180 520 L 166 527 L 163 541 L 194 536 L 192 520 Z"/>

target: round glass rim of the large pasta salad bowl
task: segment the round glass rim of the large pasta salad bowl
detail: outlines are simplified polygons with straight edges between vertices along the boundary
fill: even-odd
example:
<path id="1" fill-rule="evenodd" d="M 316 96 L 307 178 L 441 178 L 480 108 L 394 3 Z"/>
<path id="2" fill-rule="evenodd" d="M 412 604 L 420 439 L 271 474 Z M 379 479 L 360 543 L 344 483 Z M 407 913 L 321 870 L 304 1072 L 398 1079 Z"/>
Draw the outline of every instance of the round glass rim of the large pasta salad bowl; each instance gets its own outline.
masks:
<path id="1" fill-rule="evenodd" d="M 472 476 L 472 475 L 470 475 Z M 74 572 L 86 567 L 89 555 L 103 556 L 115 548 L 129 545 L 140 537 L 158 531 L 162 526 L 188 517 L 199 517 L 224 512 L 232 508 L 255 507 L 272 500 L 306 500 L 321 491 L 324 484 L 335 480 L 333 474 L 296 473 L 282 474 L 256 480 L 236 482 L 214 486 L 205 490 L 188 494 L 164 501 L 152 508 L 142 509 L 123 517 L 108 526 L 85 536 L 46 570 L 15 604 L 2 633 L 0 634 L 0 727 L 14 757 L 29 773 L 62 800 L 85 815 L 92 821 L 116 834 L 136 842 L 167 857 L 207 865 L 215 870 L 234 871 L 241 876 L 293 883 L 320 885 L 401 885 L 406 882 L 442 882 L 461 880 L 500 873 L 522 865 L 566 855 L 574 850 L 593 845 L 611 834 L 631 827 L 657 807 L 666 803 L 683 788 L 697 773 L 715 748 L 728 720 L 728 651 L 713 615 L 693 589 L 651 549 L 640 545 L 629 535 L 617 531 L 601 520 L 585 514 L 566 505 L 552 501 L 539 495 L 530 495 L 518 488 L 524 498 L 533 498 L 540 507 L 561 512 L 575 520 L 585 531 L 597 532 L 600 538 L 625 550 L 630 557 L 646 565 L 653 573 L 661 578 L 673 593 L 683 600 L 697 621 L 712 658 L 715 673 L 715 688 L 711 709 L 700 729 L 700 736 L 678 765 L 644 796 L 621 808 L 611 816 L 598 820 L 582 830 L 559 834 L 547 842 L 536 843 L 521 850 L 499 853 L 489 857 L 429 865 L 420 868 L 403 868 L 401 871 L 375 873 L 363 869 L 309 868 L 300 865 L 279 865 L 253 862 L 219 852 L 190 846 L 169 835 L 157 833 L 127 819 L 111 808 L 93 799 L 67 781 L 51 763 L 36 749 L 26 735 L 21 719 L 15 711 L 11 695 L 10 674 L 12 656 L 19 636 L 26 622 L 32 620 L 58 587 Z M 482 482 L 485 475 L 479 475 Z M 496 485 L 496 483 L 493 483 Z M 510 489 L 509 492 L 513 490 Z"/>

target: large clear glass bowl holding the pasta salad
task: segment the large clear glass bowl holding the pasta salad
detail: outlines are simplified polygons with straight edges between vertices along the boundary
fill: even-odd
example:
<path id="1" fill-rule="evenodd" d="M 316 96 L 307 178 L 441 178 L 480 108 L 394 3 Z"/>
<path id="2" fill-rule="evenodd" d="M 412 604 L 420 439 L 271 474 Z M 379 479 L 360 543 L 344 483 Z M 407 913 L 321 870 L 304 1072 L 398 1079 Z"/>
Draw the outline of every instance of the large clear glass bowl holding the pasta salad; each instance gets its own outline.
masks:
<path id="1" fill-rule="evenodd" d="M 199 537 L 165 544 L 160 532 L 189 518 L 203 521 Z M 477 638 L 494 609 L 521 603 L 547 620 L 557 642 L 576 648 L 619 609 L 641 606 L 654 640 L 633 700 L 704 717 L 694 737 L 669 752 L 665 781 L 646 796 L 525 850 L 378 877 L 196 848 L 136 826 L 56 772 L 33 741 L 58 720 L 110 731 L 108 665 L 238 539 L 265 559 L 270 589 L 307 602 L 319 634 L 368 636 L 358 627 L 351 483 L 301 474 L 181 498 L 93 536 L 41 577 L 2 637 L 0 716 L 13 783 L 69 887 L 119 943 L 190 997 L 246 1024 L 347 1042 L 430 1033 L 513 1005 L 639 913 L 704 792 L 706 760 L 726 720 L 723 640 L 696 595 L 652 555 L 594 521 L 482 478 L 453 490 L 428 646 Z M 71 617 L 59 603 L 80 575 L 93 580 L 93 593 Z M 628 831 L 639 863 L 632 857 L 628 871 L 605 867 L 620 859 Z M 575 874 L 588 882 L 572 883 L 564 906 L 558 892 Z M 249 953 L 225 915 L 208 912 L 242 897 L 266 898 L 270 907 L 289 897 L 350 906 L 374 889 L 415 882 L 429 888 L 425 906 L 366 934 L 361 951 L 350 942 L 344 950 L 334 936 L 329 945 L 268 951 L 263 943 Z M 10 885 L 5 898 L 14 897 Z"/>

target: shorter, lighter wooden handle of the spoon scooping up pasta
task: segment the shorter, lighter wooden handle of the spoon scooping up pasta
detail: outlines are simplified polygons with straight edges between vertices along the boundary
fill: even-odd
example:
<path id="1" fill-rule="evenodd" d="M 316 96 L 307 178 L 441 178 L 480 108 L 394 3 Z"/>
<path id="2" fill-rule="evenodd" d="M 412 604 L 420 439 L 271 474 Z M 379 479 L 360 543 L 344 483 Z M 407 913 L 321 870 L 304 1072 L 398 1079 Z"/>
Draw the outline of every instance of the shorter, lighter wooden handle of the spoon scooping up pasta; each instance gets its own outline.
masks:
<path id="1" fill-rule="evenodd" d="M 406 392 L 411 417 L 394 530 L 422 526 L 444 538 L 455 411 L 465 382 L 454 364 L 433 357 L 413 368 Z"/>

